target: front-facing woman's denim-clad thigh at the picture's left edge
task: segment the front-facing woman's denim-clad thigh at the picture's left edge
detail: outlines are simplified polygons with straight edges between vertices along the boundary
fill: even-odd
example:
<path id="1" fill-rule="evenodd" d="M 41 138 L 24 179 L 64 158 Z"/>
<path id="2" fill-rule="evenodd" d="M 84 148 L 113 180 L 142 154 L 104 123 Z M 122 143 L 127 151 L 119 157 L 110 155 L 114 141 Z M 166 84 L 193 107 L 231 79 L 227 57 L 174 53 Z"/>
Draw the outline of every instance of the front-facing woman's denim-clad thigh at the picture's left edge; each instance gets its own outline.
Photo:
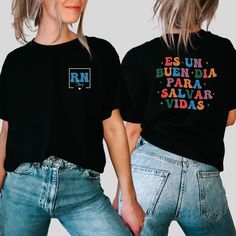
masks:
<path id="1" fill-rule="evenodd" d="M 31 181 L 33 176 L 26 169 L 21 170 L 8 172 L 4 181 L 0 198 L 1 233 L 4 236 L 18 236 L 19 232 L 24 236 L 45 236 L 50 217 L 34 201 L 37 191 Z"/>

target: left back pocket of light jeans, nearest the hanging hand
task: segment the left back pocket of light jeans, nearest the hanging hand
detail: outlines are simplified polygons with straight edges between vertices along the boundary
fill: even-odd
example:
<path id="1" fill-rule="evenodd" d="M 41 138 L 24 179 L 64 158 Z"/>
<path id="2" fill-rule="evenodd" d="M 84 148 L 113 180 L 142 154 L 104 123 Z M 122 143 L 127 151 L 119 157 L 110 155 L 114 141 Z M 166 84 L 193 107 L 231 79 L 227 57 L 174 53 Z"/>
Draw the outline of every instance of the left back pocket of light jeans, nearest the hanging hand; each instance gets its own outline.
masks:
<path id="1" fill-rule="evenodd" d="M 145 215 L 151 216 L 168 179 L 169 172 L 132 165 L 137 200 Z"/>

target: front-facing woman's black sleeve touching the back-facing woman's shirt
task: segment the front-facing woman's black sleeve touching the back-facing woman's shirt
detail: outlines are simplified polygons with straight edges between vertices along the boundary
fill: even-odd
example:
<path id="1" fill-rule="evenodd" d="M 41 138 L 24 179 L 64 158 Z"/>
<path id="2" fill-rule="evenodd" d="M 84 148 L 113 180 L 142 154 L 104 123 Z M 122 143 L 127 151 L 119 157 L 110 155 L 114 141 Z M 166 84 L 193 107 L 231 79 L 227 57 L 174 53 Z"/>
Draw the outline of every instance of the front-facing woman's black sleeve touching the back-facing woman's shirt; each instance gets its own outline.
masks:
<path id="1" fill-rule="evenodd" d="M 120 109 L 122 94 L 119 92 L 122 87 L 123 75 L 121 71 L 121 64 L 118 53 L 115 48 L 107 43 L 106 49 L 106 63 L 105 63 L 105 84 L 104 84 L 104 105 L 103 105 L 103 120 L 109 118 L 115 109 Z"/>

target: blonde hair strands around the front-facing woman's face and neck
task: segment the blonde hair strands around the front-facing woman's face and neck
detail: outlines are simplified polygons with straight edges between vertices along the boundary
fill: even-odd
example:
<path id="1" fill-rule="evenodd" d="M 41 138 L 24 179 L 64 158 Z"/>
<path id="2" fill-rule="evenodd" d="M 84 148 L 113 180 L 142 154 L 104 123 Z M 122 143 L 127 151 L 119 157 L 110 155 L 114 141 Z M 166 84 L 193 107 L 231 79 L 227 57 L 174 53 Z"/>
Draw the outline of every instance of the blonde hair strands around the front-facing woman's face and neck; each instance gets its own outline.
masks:
<path id="1" fill-rule="evenodd" d="M 26 26 L 31 31 L 33 31 L 32 21 L 35 27 L 39 26 L 42 16 L 42 2 L 43 0 L 13 0 L 12 2 L 12 15 L 14 17 L 13 27 L 15 29 L 15 37 L 18 41 L 27 43 L 24 26 Z M 58 29 L 59 29 L 58 38 L 59 38 L 61 34 L 62 23 L 57 6 L 55 7 L 58 21 Z M 91 55 L 87 39 L 83 33 L 83 18 L 84 18 L 84 11 L 80 16 L 80 21 L 77 29 L 78 40 Z"/>

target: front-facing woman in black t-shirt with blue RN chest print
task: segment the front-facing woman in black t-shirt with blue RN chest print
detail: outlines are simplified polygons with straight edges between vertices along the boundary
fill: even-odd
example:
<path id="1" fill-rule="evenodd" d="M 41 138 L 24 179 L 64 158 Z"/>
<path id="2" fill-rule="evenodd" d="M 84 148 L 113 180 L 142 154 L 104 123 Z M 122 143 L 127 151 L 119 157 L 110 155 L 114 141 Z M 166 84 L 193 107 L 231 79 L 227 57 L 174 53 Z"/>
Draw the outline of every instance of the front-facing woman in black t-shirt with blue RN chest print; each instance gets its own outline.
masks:
<path id="1" fill-rule="evenodd" d="M 115 92 L 119 59 L 108 42 L 83 35 L 86 3 L 13 2 L 16 38 L 26 41 L 31 20 L 38 30 L 7 56 L 1 73 L 1 235 L 47 235 L 51 218 L 71 235 L 130 235 L 100 185 L 103 133 L 122 218 L 135 235 L 142 227 Z M 75 34 L 68 26 L 79 19 Z"/>

